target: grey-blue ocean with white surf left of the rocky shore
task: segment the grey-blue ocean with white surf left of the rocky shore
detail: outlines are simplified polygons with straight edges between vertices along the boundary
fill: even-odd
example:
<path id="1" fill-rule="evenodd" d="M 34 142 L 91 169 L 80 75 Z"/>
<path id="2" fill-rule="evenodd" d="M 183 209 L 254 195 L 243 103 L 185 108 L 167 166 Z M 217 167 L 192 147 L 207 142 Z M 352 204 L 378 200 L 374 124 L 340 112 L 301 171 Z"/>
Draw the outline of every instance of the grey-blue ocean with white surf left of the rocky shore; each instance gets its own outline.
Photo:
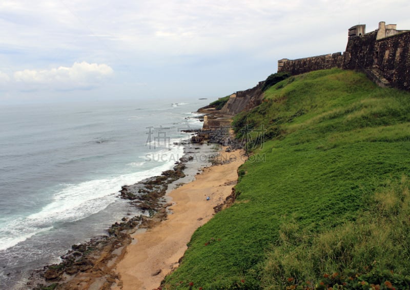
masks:
<path id="1" fill-rule="evenodd" d="M 172 169 L 209 100 L 0 106 L 0 289 L 140 214 L 122 185 Z"/>

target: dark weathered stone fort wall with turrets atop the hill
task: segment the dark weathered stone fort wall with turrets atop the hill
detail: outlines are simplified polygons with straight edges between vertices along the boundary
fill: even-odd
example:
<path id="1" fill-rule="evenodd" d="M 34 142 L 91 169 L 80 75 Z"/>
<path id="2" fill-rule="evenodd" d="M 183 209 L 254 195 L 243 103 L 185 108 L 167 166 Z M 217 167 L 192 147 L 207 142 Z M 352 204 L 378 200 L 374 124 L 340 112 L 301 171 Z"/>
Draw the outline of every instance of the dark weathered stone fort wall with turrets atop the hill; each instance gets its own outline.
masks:
<path id="1" fill-rule="evenodd" d="M 293 75 L 321 69 L 365 71 L 380 85 L 410 90 L 410 31 L 379 23 L 379 29 L 365 33 L 365 25 L 349 29 L 346 51 L 299 59 L 278 60 L 278 72 Z"/>

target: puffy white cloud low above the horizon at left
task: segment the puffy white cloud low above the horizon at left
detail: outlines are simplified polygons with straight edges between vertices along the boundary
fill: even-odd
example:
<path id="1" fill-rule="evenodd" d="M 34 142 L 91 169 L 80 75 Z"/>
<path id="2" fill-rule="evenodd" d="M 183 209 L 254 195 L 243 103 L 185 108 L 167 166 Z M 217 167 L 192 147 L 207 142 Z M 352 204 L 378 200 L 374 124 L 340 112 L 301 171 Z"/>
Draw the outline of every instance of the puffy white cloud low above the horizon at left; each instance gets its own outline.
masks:
<path id="1" fill-rule="evenodd" d="M 75 90 L 98 86 L 113 74 L 113 69 L 106 64 L 89 64 L 83 61 L 76 62 L 71 67 L 16 71 L 13 76 L 15 82 L 27 87 Z"/>

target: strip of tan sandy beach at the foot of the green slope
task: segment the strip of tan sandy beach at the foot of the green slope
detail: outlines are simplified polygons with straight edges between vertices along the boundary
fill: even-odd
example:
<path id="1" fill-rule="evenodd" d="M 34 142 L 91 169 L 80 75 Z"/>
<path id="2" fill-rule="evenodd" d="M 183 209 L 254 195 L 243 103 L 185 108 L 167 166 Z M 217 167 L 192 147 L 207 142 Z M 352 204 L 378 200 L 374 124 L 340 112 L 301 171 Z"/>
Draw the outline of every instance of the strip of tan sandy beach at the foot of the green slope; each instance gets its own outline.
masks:
<path id="1" fill-rule="evenodd" d="M 204 169 L 190 183 L 173 190 L 168 219 L 146 232 L 132 235 L 133 242 L 117 266 L 122 282 L 116 289 L 154 289 L 178 266 L 194 231 L 214 215 L 214 206 L 223 203 L 238 178 L 244 162 L 242 150 L 221 152 L 226 164 Z M 210 200 L 207 200 L 210 197 Z"/>

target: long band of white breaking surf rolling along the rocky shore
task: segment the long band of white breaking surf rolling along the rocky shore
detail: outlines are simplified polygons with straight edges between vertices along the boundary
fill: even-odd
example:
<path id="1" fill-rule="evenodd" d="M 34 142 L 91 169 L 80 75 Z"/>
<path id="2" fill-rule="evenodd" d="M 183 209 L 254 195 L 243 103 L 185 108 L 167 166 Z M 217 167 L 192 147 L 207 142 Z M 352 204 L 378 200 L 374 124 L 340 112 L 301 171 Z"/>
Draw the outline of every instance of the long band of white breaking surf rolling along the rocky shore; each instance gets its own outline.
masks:
<path id="1" fill-rule="evenodd" d="M 183 149 L 173 146 L 171 150 L 162 149 L 154 152 L 154 166 L 145 171 L 96 179 L 78 184 L 66 184 L 63 190 L 53 195 L 52 201 L 44 208 L 25 218 L 17 218 L 6 222 L 0 229 L 0 251 L 23 242 L 35 234 L 49 231 L 56 224 L 73 222 L 98 213 L 115 202 L 115 193 L 122 185 L 129 185 L 142 179 L 159 175 L 174 165 L 169 156 L 182 156 Z M 167 158 L 164 158 L 167 156 Z M 146 161 L 144 161 L 146 162 Z"/>

